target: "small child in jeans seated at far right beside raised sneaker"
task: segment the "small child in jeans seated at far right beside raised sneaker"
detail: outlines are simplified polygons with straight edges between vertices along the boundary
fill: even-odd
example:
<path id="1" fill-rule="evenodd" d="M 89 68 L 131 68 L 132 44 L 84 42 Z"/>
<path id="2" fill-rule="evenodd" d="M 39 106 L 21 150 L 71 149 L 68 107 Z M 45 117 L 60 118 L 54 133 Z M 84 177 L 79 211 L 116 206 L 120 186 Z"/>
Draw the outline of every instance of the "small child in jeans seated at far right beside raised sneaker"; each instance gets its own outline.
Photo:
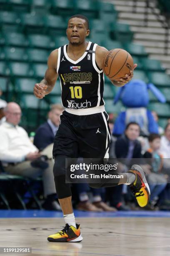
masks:
<path id="1" fill-rule="evenodd" d="M 158 196 L 165 189 L 167 179 L 161 173 L 163 168 L 163 155 L 160 150 L 160 135 L 151 133 L 148 137 L 150 148 L 143 155 L 148 158 L 148 163 L 152 166 L 150 174 L 148 174 L 148 183 L 150 187 L 150 203 L 148 207 L 152 210 L 158 200 Z"/>

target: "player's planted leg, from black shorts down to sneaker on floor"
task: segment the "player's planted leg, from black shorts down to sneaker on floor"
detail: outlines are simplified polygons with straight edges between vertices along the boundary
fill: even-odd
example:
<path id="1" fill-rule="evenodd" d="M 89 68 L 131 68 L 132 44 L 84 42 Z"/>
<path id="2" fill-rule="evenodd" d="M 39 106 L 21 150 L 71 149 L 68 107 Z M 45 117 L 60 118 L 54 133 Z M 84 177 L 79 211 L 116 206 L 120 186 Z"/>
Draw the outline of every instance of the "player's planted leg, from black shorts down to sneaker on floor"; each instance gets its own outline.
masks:
<path id="1" fill-rule="evenodd" d="M 65 159 L 77 157 L 77 142 L 69 122 L 70 120 L 67 120 L 67 115 L 63 113 L 53 148 L 53 155 L 55 157 L 53 167 L 55 188 L 64 215 L 65 228 L 48 236 L 47 240 L 50 242 L 82 241 L 80 225 L 75 223 L 72 210 L 70 184 L 65 183 Z"/>

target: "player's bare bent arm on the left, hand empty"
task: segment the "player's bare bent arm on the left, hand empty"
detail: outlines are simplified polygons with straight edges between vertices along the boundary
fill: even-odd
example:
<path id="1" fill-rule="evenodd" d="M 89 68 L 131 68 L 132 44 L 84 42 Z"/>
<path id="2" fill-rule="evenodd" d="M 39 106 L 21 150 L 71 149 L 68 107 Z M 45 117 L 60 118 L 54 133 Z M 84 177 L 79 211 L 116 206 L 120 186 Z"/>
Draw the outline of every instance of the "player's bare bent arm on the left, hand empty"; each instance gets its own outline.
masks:
<path id="1" fill-rule="evenodd" d="M 52 51 L 48 58 L 47 70 L 45 72 L 44 79 L 42 79 L 39 84 L 35 84 L 34 86 L 34 95 L 39 99 L 43 99 L 43 97 L 49 94 L 55 86 L 55 82 L 58 77 L 58 74 L 56 72 L 57 59 L 58 49 Z"/>

